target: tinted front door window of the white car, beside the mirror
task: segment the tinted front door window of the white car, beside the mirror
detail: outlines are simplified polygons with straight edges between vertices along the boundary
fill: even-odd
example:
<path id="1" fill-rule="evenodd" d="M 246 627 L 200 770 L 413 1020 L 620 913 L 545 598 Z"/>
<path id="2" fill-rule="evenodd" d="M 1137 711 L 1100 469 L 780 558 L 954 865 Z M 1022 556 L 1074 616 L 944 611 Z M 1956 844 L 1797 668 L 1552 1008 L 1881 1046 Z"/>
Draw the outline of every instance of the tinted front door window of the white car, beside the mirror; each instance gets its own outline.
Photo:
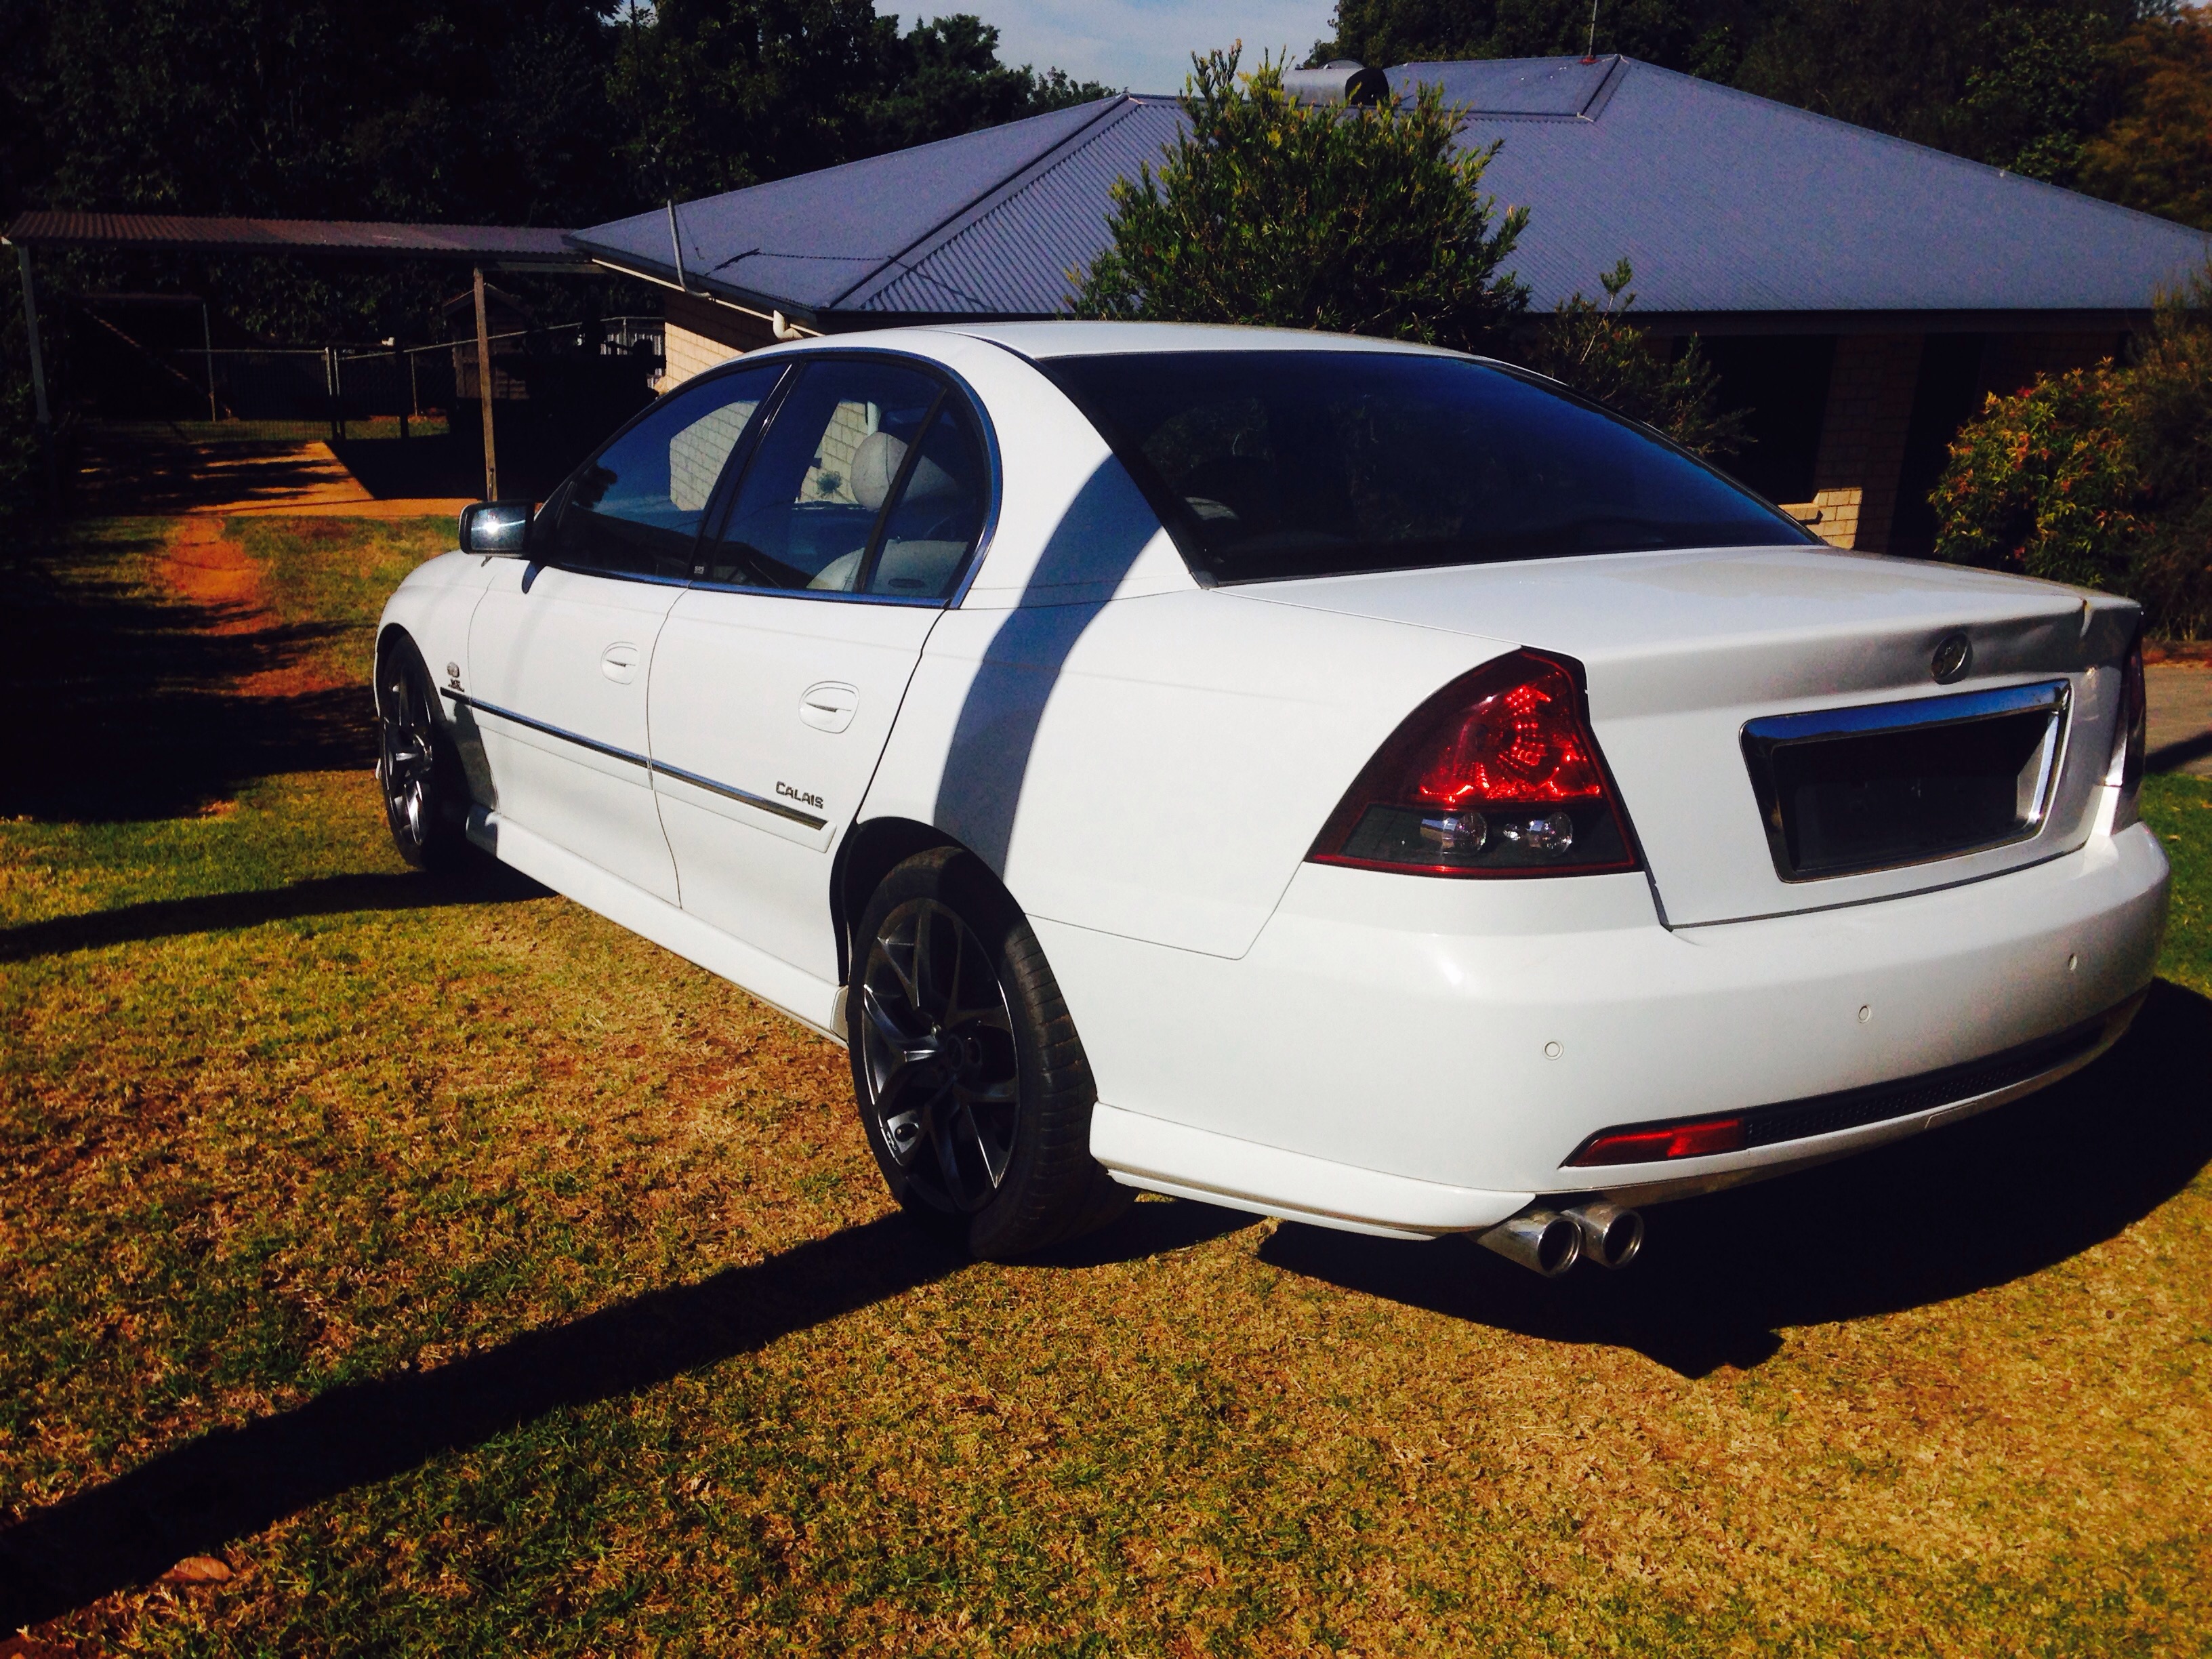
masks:
<path id="1" fill-rule="evenodd" d="M 688 580 L 699 518 L 781 363 L 668 394 L 568 480 L 551 562 Z"/>

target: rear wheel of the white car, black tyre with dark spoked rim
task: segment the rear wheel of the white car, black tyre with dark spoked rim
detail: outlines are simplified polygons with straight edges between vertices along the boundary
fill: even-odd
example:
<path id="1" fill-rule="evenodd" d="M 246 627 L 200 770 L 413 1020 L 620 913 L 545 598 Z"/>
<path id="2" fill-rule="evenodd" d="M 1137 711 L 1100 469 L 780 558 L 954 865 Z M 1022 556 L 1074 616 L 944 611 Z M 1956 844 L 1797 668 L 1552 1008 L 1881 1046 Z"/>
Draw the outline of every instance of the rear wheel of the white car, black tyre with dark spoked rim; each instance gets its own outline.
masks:
<path id="1" fill-rule="evenodd" d="M 891 1197 L 987 1261 L 1119 1217 L 1135 1194 L 1091 1157 L 1082 1037 L 991 872 L 958 847 L 916 854 L 854 940 L 852 1086 Z"/>

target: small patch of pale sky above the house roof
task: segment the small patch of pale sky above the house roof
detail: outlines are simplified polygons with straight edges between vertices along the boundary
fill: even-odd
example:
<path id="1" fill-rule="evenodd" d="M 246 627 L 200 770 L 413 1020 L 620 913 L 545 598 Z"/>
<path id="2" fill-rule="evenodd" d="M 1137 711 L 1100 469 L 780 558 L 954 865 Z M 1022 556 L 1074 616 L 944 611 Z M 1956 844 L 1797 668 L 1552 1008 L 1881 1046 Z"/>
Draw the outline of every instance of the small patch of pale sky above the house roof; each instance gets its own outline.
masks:
<path id="1" fill-rule="evenodd" d="M 878 11 L 902 11 L 878 0 Z M 1334 0 L 962 0 L 998 24 L 1002 64 L 1064 69 L 1075 80 L 1126 86 L 1133 93 L 1177 93 L 1190 53 L 1243 40 L 1245 64 L 1261 51 L 1290 49 L 1305 62 L 1329 33 Z M 933 15 L 933 13 L 931 13 Z M 902 18 L 902 27 L 911 20 Z"/>

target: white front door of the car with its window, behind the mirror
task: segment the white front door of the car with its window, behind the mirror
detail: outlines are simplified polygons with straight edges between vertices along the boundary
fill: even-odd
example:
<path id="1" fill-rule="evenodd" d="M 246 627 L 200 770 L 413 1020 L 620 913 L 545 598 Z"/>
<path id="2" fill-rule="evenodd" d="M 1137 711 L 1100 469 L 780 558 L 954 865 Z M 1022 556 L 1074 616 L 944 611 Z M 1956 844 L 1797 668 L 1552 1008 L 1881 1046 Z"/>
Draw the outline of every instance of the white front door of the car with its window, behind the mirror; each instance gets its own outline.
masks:
<path id="1" fill-rule="evenodd" d="M 650 776 L 653 648 L 714 480 L 776 369 L 653 405 L 562 484 L 469 624 L 465 701 L 502 818 L 677 902 Z"/>

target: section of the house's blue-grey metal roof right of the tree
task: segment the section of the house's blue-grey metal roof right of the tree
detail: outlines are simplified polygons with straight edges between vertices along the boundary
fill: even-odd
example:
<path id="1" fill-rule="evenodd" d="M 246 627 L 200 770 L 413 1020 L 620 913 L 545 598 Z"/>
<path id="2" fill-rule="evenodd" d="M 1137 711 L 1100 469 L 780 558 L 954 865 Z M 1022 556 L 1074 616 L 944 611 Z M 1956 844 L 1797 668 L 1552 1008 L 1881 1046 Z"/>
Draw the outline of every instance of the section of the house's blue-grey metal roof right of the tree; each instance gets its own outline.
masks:
<path id="1" fill-rule="evenodd" d="M 1409 64 L 1502 139 L 1484 188 L 1531 208 L 1513 268 L 1548 307 L 1624 254 L 1641 312 L 2128 312 L 2212 239 L 1790 104 L 1619 62 L 1595 117 L 1491 113 L 1500 64 Z"/>

